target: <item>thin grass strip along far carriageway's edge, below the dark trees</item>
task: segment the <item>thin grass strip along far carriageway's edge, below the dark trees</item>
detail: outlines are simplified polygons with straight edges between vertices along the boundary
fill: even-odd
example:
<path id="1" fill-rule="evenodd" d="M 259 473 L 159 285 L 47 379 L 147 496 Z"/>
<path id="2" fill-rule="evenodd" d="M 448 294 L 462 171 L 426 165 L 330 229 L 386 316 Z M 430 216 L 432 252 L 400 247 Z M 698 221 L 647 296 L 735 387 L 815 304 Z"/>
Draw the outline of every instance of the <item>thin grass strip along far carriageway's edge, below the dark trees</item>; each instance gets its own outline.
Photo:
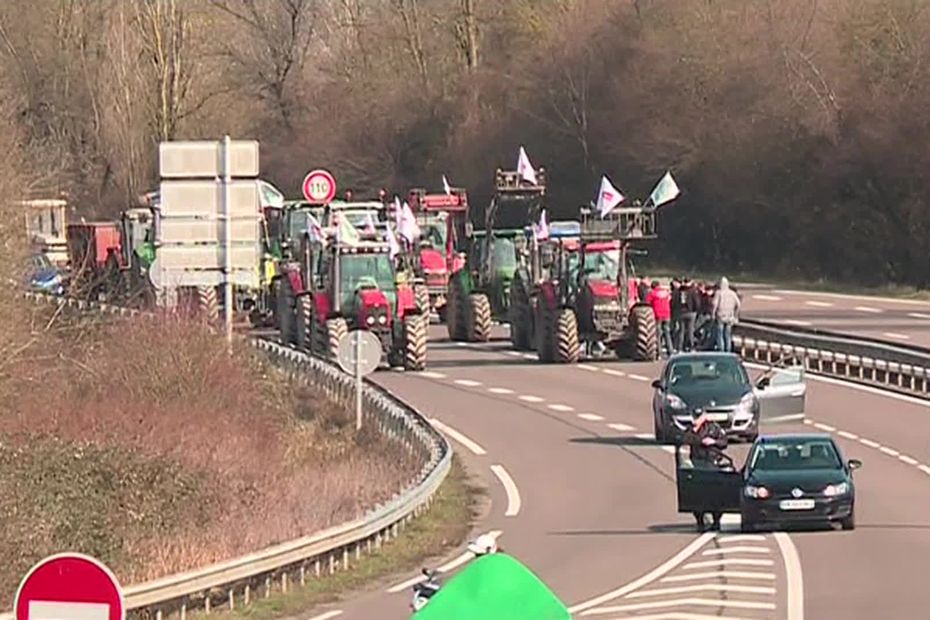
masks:
<path id="1" fill-rule="evenodd" d="M 692 278 L 716 282 L 721 276 L 726 276 L 730 282 L 744 282 L 750 284 L 765 284 L 799 291 L 820 291 L 824 293 L 842 293 L 846 295 L 871 295 L 873 297 L 896 297 L 900 299 L 914 299 L 930 301 L 930 290 L 918 290 L 913 286 L 900 284 L 887 284 L 884 286 L 862 286 L 849 282 L 834 282 L 823 278 L 805 280 L 798 276 L 779 276 L 771 274 L 758 274 L 751 272 L 708 271 L 668 266 L 640 268 L 641 275 L 652 278 L 668 278 L 678 275 L 689 275 Z"/>

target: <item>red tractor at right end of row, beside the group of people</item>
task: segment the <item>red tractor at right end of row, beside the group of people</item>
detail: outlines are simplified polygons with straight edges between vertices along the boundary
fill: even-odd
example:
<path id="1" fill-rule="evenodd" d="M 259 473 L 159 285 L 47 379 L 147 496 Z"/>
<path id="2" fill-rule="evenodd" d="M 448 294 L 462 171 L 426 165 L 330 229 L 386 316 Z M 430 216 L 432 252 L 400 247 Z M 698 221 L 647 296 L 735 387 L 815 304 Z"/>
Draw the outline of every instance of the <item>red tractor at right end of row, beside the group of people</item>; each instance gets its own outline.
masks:
<path id="1" fill-rule="evenodd" d="M 575 363 L 589 356 L 655 360 L 658 338 L 652 308 L 629 277 L 633 240 L 654 239 L 655 209 L 616 209 L 605 218 L 582 210 L 577 244 L 556 246 L 552 276 L 536 303 L 536 351 L 542 362 Z M 575 247 L 572 247 L 572 246 Z"/>

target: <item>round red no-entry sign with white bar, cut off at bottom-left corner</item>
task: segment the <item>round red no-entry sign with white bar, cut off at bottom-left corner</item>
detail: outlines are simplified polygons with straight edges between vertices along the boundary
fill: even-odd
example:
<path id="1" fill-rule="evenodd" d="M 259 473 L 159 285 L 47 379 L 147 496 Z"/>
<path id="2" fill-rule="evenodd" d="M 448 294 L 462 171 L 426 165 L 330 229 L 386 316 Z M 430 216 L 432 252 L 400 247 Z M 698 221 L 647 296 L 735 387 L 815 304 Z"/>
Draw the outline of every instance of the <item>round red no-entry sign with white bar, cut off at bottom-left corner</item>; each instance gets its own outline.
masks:
<path id="1" fill-rule="evenodd" d="M 63 553 L 32 567 L 19 584 L 15 620 L 125 620 L 116 576 L 94 558 Z"/>

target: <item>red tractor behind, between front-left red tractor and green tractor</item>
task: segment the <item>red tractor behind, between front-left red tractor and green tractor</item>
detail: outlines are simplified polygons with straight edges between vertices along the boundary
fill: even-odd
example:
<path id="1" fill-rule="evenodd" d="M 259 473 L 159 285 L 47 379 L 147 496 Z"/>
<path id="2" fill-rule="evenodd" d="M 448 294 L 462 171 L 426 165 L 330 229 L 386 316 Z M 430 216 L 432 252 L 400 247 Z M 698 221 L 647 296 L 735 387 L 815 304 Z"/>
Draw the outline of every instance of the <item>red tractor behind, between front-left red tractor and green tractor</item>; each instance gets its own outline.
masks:
<path id="1" fill-rule="evenodd" d="M 459 250 L 468 221 L 468 194 L 464 189 L 452 189 L 445 194 L 427 194 L 425 189 L 412 189 L 407 200 L 420 226 L 420 245 L 413 254 L 413 270 L 426 284 L 428 307 L 446 320 L 446 298 L 449 275 L 465 265 Z"/>

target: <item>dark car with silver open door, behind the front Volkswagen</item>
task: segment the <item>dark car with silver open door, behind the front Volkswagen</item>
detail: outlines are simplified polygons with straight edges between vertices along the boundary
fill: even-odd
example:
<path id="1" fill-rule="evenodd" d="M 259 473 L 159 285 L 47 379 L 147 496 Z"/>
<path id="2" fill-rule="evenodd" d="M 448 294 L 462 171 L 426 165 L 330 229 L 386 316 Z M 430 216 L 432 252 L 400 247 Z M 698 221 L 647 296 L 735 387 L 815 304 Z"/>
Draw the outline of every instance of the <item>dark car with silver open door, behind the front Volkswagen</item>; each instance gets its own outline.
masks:
<path id="1" fill-rule="evenodd" d="M 760 423 L 797 420 L 807 392 L 803 368 L 772 368 L 755 384 L 735 353 L 671 356 L 652 382 L 656 441 L 679 439 L 702 413 L 730 439 L 752 442 Z"/>

